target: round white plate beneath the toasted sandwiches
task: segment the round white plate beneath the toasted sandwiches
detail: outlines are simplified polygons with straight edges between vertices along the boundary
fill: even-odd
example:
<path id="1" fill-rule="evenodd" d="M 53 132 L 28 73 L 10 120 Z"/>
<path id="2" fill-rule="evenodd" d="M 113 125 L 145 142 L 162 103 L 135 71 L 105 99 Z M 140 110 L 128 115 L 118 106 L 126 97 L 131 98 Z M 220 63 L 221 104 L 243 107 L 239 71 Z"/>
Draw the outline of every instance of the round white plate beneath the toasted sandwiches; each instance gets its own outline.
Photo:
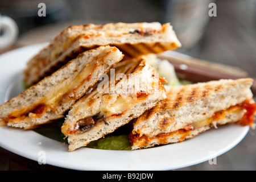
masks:
<path id="1" fill-rule="evenodd" d="M 27 46 L 0 56 L 0 104 L 22 92 L 22 71 L 26 62 L 45 45 Z M 50 135 L 0 127 L 0 146 L 28 159 L 39 162 L 46 159 L 49 165 L 69 169 L 170 170 L 199 164 L 224 154 L 241 142 L 248 131 L 249 127 L 229 125 L 211 129 L 185 142 L 143 150 L 79 148 L 68 152 L 67 144 Z"/>

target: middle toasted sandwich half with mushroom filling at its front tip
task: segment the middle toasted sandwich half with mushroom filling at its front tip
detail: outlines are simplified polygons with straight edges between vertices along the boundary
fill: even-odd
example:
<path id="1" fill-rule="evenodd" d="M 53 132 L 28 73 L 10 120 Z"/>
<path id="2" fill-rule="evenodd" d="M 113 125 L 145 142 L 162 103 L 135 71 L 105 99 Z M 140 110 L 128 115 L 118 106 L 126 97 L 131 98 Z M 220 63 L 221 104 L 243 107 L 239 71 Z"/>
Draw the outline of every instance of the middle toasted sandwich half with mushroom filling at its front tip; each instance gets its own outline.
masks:
<path id="1" fill-rule="evenodd" d="M 108 79 L 106 79 L 108 80 Z M 145 60 L 115 68 L 115 79 L 86 94 L 68 112 L 61 127 L 69 151 L 112 133 L 166 98 L 162 79 Z M 104 83 L 106 83 L 104 82 Z"/>

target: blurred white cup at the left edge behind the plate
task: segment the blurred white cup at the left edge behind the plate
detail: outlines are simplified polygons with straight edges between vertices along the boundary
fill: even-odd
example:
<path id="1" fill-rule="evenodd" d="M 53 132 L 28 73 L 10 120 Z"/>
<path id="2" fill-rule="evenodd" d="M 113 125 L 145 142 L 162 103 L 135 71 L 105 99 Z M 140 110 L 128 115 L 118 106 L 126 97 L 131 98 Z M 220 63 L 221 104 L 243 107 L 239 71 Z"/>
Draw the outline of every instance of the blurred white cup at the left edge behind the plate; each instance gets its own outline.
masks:
<path id="1" fill-rule="evenodd" d="M 9 16 L 0 14 L 0 49 L 12 46 L 18 37 L 18 26 Z"/>

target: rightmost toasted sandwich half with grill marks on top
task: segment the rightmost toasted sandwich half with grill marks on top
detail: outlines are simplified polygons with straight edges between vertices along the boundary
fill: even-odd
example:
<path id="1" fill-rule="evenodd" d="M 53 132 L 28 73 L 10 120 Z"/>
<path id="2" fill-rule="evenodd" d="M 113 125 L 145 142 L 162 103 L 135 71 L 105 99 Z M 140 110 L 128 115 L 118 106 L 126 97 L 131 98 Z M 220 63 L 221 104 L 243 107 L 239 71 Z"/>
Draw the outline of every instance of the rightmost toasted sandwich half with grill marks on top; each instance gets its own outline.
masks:
<path id="1" fill-rule="evenodd" d="M 131 149 L 182 142 L 226 123 L 254 127 L 252 83 L 241 78 L 166 88 L 164 101 L 134 119 Z"/>

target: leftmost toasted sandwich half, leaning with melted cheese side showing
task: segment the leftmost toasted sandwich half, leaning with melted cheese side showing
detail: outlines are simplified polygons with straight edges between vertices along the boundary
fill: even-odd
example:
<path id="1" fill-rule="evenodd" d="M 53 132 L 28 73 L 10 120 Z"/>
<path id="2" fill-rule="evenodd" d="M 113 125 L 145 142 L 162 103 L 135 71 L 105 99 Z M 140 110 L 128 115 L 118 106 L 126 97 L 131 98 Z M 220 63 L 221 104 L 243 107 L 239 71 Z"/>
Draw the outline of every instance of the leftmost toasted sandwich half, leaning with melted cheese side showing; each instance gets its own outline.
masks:
<path id="1" fill-rule="evenodd" d="M 34 129 L 64 117 L 63 114 L 122 57 L 122 52 L 110 46 L 81 53 L 51 76 L 2 104 L 0 124 Z"/>

